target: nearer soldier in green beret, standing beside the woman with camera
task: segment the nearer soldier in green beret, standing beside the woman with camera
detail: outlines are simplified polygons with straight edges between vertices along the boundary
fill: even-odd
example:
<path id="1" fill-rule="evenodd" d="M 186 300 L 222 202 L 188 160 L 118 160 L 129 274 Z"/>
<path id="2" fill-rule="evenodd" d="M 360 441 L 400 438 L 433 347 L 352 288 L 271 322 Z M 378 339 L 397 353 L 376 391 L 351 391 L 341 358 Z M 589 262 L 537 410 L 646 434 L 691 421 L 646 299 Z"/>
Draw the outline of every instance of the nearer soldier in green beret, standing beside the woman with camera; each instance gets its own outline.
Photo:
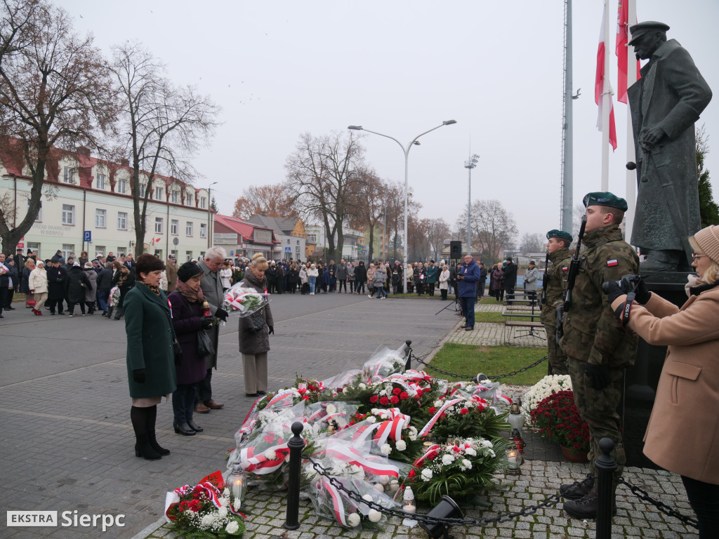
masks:
<path id="1" fill-rule="evenodd" d="M 617 407 L 622 397 L 624 369 L 636 356 L 637 337 L 623 330 L 615 318 L 607 296 L 605 281 L 639 272 L 639 257 L 623 241 L 619 225 L 627 203 L 612 193 L 589 193 L 584 198 L 587 224 L 582 239 L 580 271 L 572 290 L 572 303 L 564 315 L 564 336 L 559 342 L 567 354 L 572 377 L 574 403 L 590 430 L 590 471 L 597 475 L 594 461 L 602 455 L 599 441 L 614 441 L 612 456 L 617 462 L 614 487 L 618 484 L 626 456 L 620 433 Z M 585 519 L 597 515 L 597 485 L 592 480 L 580 487 L 562 485 L 559 492 L 567 499 L 564 510 Z"/>

